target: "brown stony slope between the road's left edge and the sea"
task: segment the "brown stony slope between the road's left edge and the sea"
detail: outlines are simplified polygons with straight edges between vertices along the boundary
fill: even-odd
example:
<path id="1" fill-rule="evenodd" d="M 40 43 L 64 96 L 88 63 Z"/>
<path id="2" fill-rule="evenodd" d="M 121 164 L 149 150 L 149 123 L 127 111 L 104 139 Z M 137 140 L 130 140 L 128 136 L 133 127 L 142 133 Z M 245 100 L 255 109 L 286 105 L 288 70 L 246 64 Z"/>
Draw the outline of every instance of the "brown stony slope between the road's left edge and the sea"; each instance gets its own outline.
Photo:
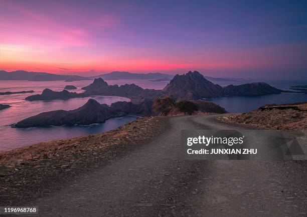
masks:
<path id="1" fill-rule="evenodd" d="M 127 154 L 165 131 L 167 118 L 138 118 L 114 130 L 0 152 L 0 204 L 25 204 L 58 184 Z"/>

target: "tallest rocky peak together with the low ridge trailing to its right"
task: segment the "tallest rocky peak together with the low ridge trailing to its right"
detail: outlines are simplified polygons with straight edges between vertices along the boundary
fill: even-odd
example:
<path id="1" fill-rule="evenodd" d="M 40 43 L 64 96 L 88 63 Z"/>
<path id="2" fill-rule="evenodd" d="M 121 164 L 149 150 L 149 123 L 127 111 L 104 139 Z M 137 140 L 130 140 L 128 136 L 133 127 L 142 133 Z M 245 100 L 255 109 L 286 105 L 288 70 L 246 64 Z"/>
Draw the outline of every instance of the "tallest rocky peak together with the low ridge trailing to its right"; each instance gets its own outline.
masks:
<path id="1" fill-rule="evenodd" d="M 260 96 L 287 91 L 278 90 L 264 82 L 229 85 L 223 88 L 208 81 L 199 72 L 190 71 L 184 75 L 176 75 L 163 92 L 172 94 L 175 98 L 197 100 L 222 96 Z"/>

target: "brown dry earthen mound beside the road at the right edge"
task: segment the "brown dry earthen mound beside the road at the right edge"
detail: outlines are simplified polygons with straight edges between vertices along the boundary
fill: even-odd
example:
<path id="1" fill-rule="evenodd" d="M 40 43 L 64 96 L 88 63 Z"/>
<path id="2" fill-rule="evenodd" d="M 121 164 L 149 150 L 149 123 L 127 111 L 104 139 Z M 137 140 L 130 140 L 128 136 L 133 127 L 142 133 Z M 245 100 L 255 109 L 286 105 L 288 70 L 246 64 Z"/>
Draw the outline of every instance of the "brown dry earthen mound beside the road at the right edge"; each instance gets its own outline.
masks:
<path id="1" fill-rule="evenodd" d="M 306 130 L 307 102 L 266 105 L 251 112 L 218 118 L 228 123 L 239 123 L 268 129 Z"/>

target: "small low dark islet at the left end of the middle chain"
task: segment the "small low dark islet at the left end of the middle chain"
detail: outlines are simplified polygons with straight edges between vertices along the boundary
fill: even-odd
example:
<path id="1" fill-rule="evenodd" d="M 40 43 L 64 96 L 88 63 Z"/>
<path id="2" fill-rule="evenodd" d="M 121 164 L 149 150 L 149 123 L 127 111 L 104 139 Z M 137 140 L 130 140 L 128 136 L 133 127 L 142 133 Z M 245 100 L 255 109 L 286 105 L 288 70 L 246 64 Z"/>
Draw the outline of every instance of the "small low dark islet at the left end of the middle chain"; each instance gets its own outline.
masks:
<path id="1" fill-rule="evenodd" d="M 28 96 L 26 100 L 34 101 L 34 100 L 54 100 L 54 99 L 70 99 L 75 97 L 83 97 L 82 94 L 77 94 L 76 92 L 68 92 L 67 90 L 63 90 L 60 92 L 52 91 L 50 89 L 45 89 L 42 94 Z"/>

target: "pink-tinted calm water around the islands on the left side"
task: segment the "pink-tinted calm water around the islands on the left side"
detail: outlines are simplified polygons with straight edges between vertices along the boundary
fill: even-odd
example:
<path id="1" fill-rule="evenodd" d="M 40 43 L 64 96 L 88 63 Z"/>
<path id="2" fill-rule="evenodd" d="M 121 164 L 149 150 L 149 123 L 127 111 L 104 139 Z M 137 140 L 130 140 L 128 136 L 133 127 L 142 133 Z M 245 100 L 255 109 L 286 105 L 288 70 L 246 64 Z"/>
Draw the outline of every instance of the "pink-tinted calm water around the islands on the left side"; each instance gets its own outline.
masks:
<path id="1" fill-rule="evenodd" d="M 103 124 L 90 126 L 73 126 L 73 127 L 50 127 L 50 128 L 28 128 L 16 129 L 10 125 L 24 118 L 37 115 L 41 112 L 52 110 L 72 110 L 84 105 L 88 99 L 93 98 L 99 103 L 110 105 L 117 101 L 129 101 L 124 97 L 116 96 L 93 96 L 85 98 L 74 98 L 69 100 L 52 100 L 52 101 L 26 101 L 27 96 L 41 93 L 48 85 L 48 88 L 56 91 L 63 90 L 65 85 L 73 84 L 78 87 L 76 92 L 82 92 L 80 87 L 90 84 L 91 81 L 76 82 L 30 82 L 30 81 L 0 81 L 0 92 L 34 90 L 35 93 L 1 95 L 0 104 L 9 104 L 12 107 L 0 110 L 0 151 L 11 150 L 20 146 L 35 144 L 38 142 L 49 141 L 54 139 L 65 139 L 87 134 L 105 132 L 123 125 L 126 122 L 133 121 L 136 116 L 125 116 L 111 118 Z"/>

